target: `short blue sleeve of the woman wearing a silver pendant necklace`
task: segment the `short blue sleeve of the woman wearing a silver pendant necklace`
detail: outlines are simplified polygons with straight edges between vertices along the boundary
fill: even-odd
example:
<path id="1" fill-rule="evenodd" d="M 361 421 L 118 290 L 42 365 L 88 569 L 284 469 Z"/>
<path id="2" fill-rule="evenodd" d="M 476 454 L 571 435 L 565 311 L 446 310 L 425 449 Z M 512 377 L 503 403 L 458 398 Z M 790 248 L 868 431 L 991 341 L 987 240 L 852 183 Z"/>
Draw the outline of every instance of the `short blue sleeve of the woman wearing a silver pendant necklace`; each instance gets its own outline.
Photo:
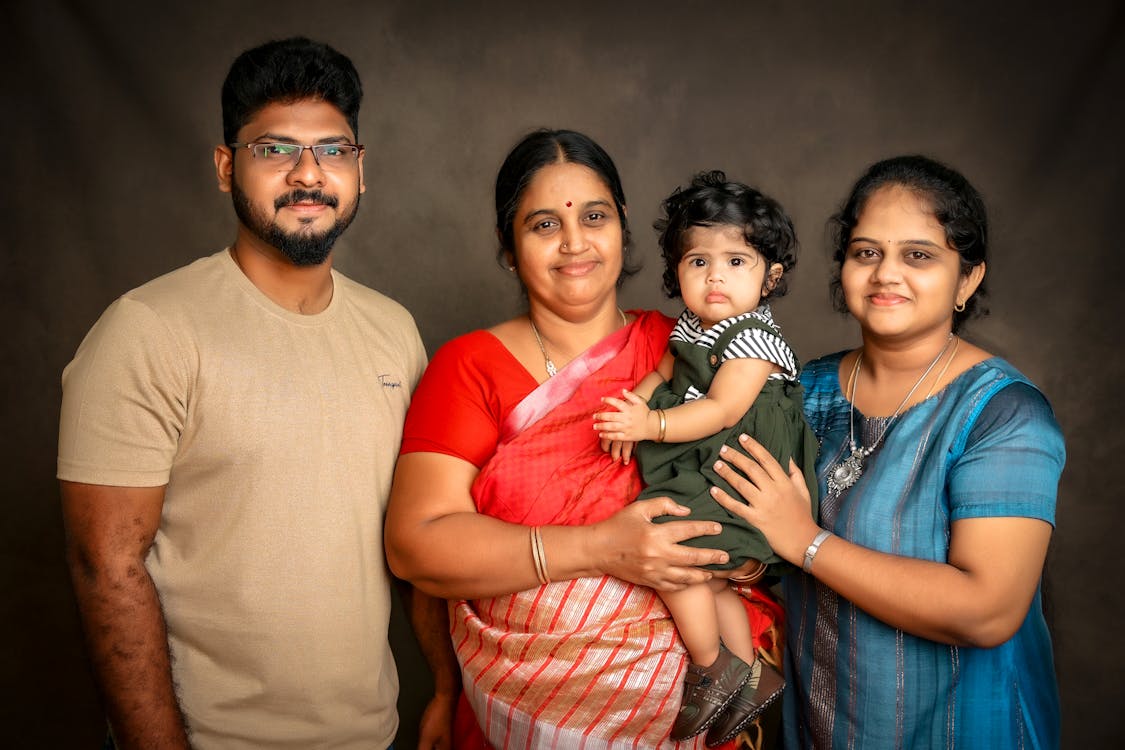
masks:
<path id="1" fill-rule="evenodd" d="M 951 519 L 1019 516 L 1054 525 L 1065 455 L 1043 395 L 1020 382 L 1000 389 L 981 409 L 950 472 Z"/>

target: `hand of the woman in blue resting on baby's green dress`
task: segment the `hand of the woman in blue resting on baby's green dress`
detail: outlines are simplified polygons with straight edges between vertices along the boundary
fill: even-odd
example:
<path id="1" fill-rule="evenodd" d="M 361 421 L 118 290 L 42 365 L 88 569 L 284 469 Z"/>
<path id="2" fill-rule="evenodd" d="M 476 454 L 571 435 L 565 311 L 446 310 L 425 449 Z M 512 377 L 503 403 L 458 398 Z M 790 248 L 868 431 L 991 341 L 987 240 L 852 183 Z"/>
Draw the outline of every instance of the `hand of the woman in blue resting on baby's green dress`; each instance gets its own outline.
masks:
<path id="1" fill-rule="evenodd" d="M 774 552 L 799 566 L 819 531 L 804 476 L 792 461 L 786 472 L 770 451 L 747 435 L 740 435 L 739 442 L 749 457 L 724 445 L 722 460 L 714 464 L 714 470 L 741 498 L 731 497 L 718 487 L 711 488 L 711 496 L 754 524 Z"/>

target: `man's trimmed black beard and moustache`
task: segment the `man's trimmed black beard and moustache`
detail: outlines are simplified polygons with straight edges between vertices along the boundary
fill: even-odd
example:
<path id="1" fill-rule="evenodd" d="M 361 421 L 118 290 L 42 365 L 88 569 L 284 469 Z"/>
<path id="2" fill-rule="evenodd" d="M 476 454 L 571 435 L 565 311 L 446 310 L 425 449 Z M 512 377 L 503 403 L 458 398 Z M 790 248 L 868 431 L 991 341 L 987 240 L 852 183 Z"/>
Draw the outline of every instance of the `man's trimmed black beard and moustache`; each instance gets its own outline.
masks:
<path id="1" fill-rule="evenodd" d="M 351 211 L 336 219 L 336 223 L 321 233 L 314 233 L 307 227 L 297 232 L 286 232 L 274 218 L 258 210 L 251 205 L 250 198 L 238 187 L 237 179 L 231 181 L 231 198 L 234 201 L 234 213 L 242 222 L 242 225 L 250 229 L 256 237 L 276 247 L 282 255 L 288 257 L 294 265 L 320 265 L 327 260 L 332 252 L 332 245 L 344 233 L 344 229 L 356 218 L 359 210 L 359 193 L 356 193 L 356 202 Z M 324 204 L 331 208 L 336 208 L 340 201 L 335 196 L 326 196 L 321 190 L 303 190 L 297 188 L 277 198 L 273 201 L 273 209 L 280 210 L 285 206 L 290 206 L 302 200 L 312 200 Z"/>

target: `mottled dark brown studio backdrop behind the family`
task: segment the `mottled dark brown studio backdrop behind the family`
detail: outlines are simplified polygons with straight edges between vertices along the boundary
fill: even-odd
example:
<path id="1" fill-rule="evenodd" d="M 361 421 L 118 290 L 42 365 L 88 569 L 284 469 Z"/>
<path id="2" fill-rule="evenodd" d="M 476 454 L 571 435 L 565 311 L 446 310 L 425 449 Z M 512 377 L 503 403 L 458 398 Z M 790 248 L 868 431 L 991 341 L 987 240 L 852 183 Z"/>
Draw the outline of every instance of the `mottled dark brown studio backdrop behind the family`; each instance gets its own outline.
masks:
<path id="1" fill-rule="evenodd" d="M 116 296 L 233 237 L 210 157 L 219 85 L 237 52 L 296 33 L 349 54 L 368 92 L 368 192 L 339 268 L 413 310 L 431 352 L 518 310 L 490 189 L 532 127 L 585 130 L 615 159 L 646 261 L 629 306 L 675 310 L 649 227 L 693 171 L 776 196 L 803 241 L 776 310 L 803 359 L 856 342 L 824 251 L 850 181 L 903 152 L 964 171 L 994 226 L 993 315 L 969 335 L 1043 387 L 1068 440 L 1046 575 L 1064 747 L 1122 739 L 1120 2 L 164 4 L 0 15 L 6 747 L 101 732 L 62 562 L 60 372 Z M 395 643 L 411 747 L 428 678 L 399 620 Z"/>

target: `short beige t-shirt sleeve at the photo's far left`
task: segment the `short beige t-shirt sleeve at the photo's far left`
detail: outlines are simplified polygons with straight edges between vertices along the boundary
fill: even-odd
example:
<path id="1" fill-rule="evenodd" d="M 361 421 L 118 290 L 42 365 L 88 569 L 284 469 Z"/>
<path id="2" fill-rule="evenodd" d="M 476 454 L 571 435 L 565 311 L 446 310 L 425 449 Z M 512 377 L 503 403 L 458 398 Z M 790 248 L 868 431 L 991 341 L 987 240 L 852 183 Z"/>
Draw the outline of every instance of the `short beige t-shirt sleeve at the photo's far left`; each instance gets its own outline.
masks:
<path id="1" fill-rule="evenodd" d="M 110 305 L 63 371 L 58 478 L 168 484 L 188 410 L 187 371 L 151 308 L 124 297 Z"/>

